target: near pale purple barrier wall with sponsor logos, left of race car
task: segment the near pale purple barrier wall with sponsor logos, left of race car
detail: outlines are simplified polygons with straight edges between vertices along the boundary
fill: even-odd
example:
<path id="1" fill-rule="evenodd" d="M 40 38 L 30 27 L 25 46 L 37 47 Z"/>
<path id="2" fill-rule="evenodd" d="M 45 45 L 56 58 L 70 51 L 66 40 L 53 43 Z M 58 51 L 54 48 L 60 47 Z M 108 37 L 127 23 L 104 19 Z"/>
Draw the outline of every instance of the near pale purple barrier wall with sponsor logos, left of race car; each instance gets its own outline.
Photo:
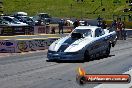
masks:
<path id="1" fill-rule="evenodd" d="M 21 53 L 48 49 L 49 45 L 60 37 L 32 39 L 0 40 L 0 53 Z"/>

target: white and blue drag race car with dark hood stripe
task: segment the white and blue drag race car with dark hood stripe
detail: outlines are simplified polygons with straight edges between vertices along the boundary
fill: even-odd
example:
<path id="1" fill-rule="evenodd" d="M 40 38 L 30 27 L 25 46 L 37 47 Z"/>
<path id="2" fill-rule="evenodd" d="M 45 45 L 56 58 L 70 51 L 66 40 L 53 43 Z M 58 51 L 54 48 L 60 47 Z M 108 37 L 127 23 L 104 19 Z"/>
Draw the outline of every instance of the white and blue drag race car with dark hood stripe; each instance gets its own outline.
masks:
<path id="1" fill-rule="evenodd" d="M 48 60 L 89 60 L 109 56 L 116 44 L 116 32 L 97 26 L 76 27 L 70 35 L 56 40 L 48 49 Z"/>

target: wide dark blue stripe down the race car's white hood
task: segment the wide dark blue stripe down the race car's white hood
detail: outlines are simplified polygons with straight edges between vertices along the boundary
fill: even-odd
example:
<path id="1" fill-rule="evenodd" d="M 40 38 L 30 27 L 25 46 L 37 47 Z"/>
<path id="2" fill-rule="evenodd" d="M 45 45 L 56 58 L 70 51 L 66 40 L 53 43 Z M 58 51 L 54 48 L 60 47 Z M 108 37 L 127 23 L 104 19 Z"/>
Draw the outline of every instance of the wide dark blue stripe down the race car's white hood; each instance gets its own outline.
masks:
<path id="1" fill-rule="evenodd" d="M 64 52 L 65 49 L 67 49 L 72 43 L 74 43 L 77 39 L 68 38 L 65 42 L 62 43 L 60 48 L 58 49 L 58 52 Z"/>

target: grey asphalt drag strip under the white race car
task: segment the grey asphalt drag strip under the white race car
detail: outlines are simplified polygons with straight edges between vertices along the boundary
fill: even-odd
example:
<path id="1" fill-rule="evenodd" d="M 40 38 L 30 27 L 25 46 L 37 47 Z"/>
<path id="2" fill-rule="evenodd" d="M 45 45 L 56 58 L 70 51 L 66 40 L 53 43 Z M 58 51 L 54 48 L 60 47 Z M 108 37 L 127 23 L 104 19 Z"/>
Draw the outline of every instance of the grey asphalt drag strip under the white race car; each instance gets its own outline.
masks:
<path id="1" fill-rule="evenodd" d="M 88 74 L 125 73 L 132 67 L 131 43 L 132 39 L 119 40 L 109 57 L 81 63 L 46 62 L 46 50 L 3 57 L 0 59 L 0 88 L 94 88 L 98 84 L 77 84 L 78 67 L 83 67 Z"/>

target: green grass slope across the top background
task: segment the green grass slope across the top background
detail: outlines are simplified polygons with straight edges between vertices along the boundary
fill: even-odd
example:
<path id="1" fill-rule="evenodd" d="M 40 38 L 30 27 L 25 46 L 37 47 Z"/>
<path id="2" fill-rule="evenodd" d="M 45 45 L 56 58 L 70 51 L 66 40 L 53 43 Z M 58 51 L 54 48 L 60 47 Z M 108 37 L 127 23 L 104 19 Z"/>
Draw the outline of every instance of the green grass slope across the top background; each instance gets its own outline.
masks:
<path id="1" fill-rule="evenodd" d="M 115 0 L 114 0 L 115 1 Z M 123 13 L 126 0 L 120 0 L 121 3 L 114 4 L 113 0 L 102 0 L 103 6 L 97 9 L 101 0 L 3 0 L 4 13 L 12 14 L 17 11 L 25 11 L 29 15 L 36 15 L 39 12 L 47 12 L 54 17 L 75 17 L 75 18 L 96 18 L 98 15 L 106 19 L 111 19 L 113 14 Z M 105 8 L 106 11 L 102 11 Z M 130 7 L 129 7 L 130 8 Z M 97 11 L 95 11 L 97 9 Z M 95 11 L 95 13 L 93 13 Z"/>

